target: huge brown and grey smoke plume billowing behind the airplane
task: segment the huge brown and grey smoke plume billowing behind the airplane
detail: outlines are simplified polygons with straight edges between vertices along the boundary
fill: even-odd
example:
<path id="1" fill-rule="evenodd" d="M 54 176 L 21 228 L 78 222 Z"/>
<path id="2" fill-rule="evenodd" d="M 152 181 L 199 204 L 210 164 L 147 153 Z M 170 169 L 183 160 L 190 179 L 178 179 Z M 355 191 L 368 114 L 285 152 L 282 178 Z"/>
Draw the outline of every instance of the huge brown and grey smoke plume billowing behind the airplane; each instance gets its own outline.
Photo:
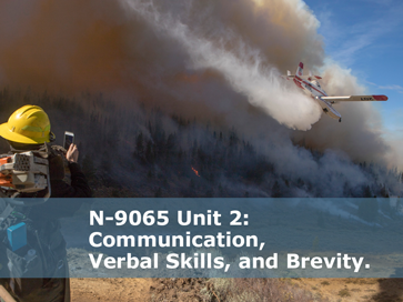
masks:
<path id="1" fill-rule="evenodd" d="M 321 173 L 292 141 L 332 150 L 328 168 L 345 163 L 346 181 L 364 179 L 350 160 L 386 162 L 372 104 L 335 105 L 343 115 L 336 123 L 280 77 L 303 61 L 325 70 L 329 94 L 364 91 L 349 71 L 324 66 L 320 23 L 302 0 L 23 2 L 0 1 L 2 85 L 103 92 L 123 108 L 144 103 L 235 127 L 295 177 Z"/>

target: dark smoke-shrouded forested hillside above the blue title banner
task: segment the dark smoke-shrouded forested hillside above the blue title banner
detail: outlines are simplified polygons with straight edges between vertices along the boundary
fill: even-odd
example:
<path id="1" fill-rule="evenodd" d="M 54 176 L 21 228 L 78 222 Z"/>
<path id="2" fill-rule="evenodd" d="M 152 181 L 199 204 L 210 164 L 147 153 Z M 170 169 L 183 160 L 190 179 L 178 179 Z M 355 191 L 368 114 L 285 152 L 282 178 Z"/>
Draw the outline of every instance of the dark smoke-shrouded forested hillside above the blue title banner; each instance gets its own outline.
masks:
<path id="1" fill-rule="evenodd" d="M 3 89 L 0 101 L 3 120 L 21 104 L 44 108 L 59 144 L 64 130 L 73 131 L 81 165 L 100 197 L 369 198 L 402 193 L 402 173 L 396 169 L 311 150 L 286 134 L 256 141 L 242 129 L 144 108 L 134 100 L 114 102 L 101 93 L 66 98 Z"/>

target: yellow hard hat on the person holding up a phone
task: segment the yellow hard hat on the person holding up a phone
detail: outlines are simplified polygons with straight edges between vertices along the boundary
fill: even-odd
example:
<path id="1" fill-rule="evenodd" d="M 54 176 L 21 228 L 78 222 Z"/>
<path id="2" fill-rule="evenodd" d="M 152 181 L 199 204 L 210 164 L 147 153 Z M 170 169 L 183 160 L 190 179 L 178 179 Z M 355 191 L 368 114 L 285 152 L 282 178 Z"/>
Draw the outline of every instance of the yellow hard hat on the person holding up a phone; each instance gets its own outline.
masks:
<path id="1" fill-rule="evenodd" d="M 7 123 L 0 124 L 0 135 L 6 140 L 39 144 L 50 142 L 54 134 L 50 132 L 48 114 L 38 105 L 27 104 L 16 110 Z"/>

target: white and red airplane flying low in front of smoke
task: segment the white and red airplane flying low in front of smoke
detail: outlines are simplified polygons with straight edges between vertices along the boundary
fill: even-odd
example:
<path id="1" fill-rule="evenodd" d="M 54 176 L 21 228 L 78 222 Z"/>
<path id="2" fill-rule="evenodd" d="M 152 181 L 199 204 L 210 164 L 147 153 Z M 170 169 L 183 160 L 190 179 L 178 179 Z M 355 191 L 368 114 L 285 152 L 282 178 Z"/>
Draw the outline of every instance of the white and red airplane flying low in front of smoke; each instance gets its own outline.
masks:
<path id="1" fill-rule="evenodd" d="M 387 101 L 386 95 L 346 95 L 346 97 L 329 97 L 328 93 L 322 89 L 318 80 L 322 78 L 319 76 L 303 76 L 303 63 L 300 62 L 295 76 L 292 76 L 288 70 L 285 78 L 286 80 L 293 80 L 296 87 L 301 88 L 303 92 L 316 100 L 322 107 L 324 113 L 332 119 L 342 121 L 342 115 L 332 107 L 332 104 L 344 101 Z"/>

